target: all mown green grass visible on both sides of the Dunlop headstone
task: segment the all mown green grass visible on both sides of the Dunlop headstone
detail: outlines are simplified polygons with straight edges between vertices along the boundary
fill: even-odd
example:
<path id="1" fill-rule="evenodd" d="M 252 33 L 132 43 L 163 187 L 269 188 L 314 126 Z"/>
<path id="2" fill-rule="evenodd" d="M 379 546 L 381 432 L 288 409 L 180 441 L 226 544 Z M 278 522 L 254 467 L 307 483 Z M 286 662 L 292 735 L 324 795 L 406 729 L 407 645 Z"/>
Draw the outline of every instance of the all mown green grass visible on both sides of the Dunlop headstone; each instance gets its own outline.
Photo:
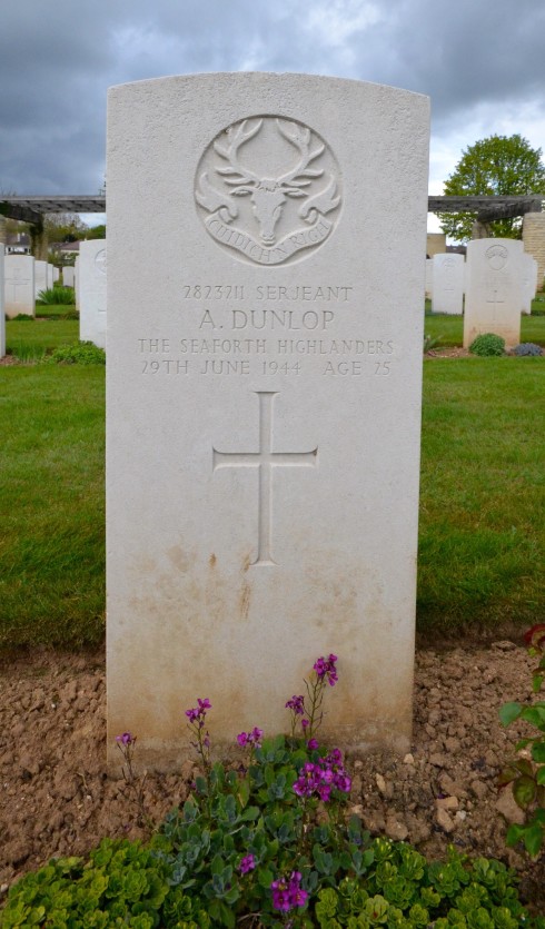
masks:
<path id="1" fill-rule="evenodd" d="M 77 342 L 77 326 L 8 324 L 50 348 Z M 0 646 L 102 640 L 103 376 L 0 368 Z M 545 357 L 424 363 L 423 633 L 543 622 L 544 387 Z"/>

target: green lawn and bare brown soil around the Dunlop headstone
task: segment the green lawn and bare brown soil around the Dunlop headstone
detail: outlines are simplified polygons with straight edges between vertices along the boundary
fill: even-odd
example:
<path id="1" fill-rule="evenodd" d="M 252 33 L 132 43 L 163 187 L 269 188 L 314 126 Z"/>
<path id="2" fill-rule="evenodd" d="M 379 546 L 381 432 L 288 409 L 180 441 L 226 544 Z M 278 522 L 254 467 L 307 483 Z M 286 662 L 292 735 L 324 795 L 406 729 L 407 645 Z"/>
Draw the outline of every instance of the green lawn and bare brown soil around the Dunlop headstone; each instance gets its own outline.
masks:
<path id="1" fill-rule="evenodd" d="M 462 344 L 460 317 L 428 316 L 428 332 L 443 336 L 439 352 Z M 73 319 L 9 322 L 8 360 L 21 360 L 0 367 L 3 891 L 51 856 L 143 834 L 103 763 L 105 370 L 33 360 L 77 338 Z M 545 346 L 545 316 L 523 317 L 522 340 Z M 506 849 L 519 811 L 496 778 L 524 731 L 504 730 L 497 710 L 528 698 L 521 635 L 544 620 L 544 372 L 543 357 L 425 360 L 413 747 L 405 759 L 349 759 L 350 807 L 374 833 L 429 857 L 452 842 L 507 861 L 538 912 L 543 856 Z M 150 774 L 150 816 L 184 801 L 194 777 L 191 761 Z"/>

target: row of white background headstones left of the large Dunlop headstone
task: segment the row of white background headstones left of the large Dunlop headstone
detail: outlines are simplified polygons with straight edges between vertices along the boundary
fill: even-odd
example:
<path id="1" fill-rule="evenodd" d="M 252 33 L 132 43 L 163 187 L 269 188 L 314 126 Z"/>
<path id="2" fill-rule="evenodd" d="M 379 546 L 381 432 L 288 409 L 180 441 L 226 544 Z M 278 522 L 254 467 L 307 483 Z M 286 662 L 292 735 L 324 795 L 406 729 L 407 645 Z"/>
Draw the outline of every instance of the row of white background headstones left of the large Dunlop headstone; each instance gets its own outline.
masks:
<path id="1" fill-rule="evenodd" d="M 36 316 L 36 300 L 42 290 L 60 280 L 59 269 L 31 255 L 6 255 L 0 291 L 2 318 Z M 3 280 L 3 283 L 2 283 Z M 106 347 L 106 240 L 80 243 L 76 267 L 62 269 L 62 284 L 73 287 L 80 315 L 80 339 Z M 4 350 L 2 352 L 2 355 Z"/>

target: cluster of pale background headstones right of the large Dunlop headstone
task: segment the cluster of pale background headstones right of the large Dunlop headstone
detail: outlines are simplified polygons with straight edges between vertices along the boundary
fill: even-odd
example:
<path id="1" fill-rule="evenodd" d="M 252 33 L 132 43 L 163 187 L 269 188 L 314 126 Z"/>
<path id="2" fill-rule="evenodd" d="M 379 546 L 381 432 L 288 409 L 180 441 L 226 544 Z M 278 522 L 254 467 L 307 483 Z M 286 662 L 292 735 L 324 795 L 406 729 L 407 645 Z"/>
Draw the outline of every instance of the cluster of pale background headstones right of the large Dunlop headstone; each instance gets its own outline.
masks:
<path id="1" fill-rule="evenodd" d="M 537 261 L 515 239 L 476 239 L 467 246 L 467 260 L 446 253 L 426 261 L 432 312 L 464 313 L 465 347 L 486 332 L 517 345 L 521 314 L 532 312 L 537 284 Z"/>

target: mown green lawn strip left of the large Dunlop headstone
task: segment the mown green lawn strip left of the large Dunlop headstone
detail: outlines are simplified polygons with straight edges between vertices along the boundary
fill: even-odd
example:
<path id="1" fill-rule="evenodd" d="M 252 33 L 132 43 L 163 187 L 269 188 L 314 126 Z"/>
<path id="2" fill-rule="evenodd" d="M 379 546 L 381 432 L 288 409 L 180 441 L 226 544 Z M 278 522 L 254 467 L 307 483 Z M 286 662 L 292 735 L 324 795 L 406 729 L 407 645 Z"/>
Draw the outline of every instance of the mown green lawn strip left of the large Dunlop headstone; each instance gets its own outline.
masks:
<path id="1" fill-rule="evenodd" d="M 0 645 L 102 639 L 103 433 L 103 367 L 0 368 Z"/>

